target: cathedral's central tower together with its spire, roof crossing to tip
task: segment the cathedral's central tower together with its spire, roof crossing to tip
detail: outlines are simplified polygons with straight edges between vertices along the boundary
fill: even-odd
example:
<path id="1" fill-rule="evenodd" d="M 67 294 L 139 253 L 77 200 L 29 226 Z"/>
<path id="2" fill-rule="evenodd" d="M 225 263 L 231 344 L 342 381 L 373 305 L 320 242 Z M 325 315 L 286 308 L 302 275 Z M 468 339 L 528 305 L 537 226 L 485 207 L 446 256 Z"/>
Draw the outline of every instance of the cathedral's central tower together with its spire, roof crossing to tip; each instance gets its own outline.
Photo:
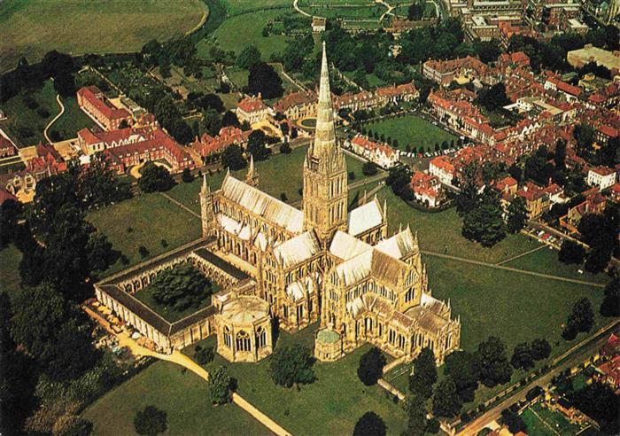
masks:
<path id="1" fill-rule="evenodd" d="M 336 230 L 346 231 L 347 194 L 345 154 L 337 144 L 334 109 L 329 90 L 325 43 L 314 142 L 304 161 L 304 230 L 314 230 L 325 245 Z"/>

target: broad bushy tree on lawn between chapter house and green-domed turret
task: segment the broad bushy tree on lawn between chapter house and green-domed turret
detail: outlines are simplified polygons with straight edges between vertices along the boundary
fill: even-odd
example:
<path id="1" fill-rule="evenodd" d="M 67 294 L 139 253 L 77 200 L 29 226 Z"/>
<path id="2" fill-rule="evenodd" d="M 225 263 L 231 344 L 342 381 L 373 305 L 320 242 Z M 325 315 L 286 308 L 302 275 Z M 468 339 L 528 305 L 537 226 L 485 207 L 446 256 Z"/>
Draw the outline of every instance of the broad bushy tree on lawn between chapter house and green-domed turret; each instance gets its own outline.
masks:
<path id="1" fill-rule="evenodd" d="M 271 379 L 276 385 L 285 387 L 307 385 L 315 379 L 313 363 L 314 357 L 306 346 L 282 346 L 269 359 Z"/>

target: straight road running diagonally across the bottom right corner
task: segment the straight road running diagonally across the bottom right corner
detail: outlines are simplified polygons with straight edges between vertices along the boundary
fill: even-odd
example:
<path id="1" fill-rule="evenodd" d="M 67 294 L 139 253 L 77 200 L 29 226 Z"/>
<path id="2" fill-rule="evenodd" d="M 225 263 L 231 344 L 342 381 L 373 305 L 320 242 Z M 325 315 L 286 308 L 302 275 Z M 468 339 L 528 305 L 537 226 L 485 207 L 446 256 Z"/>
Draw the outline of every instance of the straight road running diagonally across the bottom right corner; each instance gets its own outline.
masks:
<path id="1" fill-rule="evenodd" d="M 615 321 L 613 323 L 608 324 L 607 326 L 601 328 L 601 330 L 594 333 L 593 336 L 584 339 L 579 342 L 576 346 L 572 346 L 569 350 L 561 354 L 560 356 L 554 359 L 554 362 L 561 362 L 570 354 L 574 353 L 581 346 L 585 346 L 585 344 L 590 344 L 586 346 L 586 348 L 580 351 L 577 354 L 571 356 L 566 362 L 556 366 L 553 370 L 550 370 L 545 375 L 533 380 L 529 385 L 523 387 L 521 391 L 510 395 L 506 400 L 501 401 L 497 406 L 489 409 L 484 413 L 481 417 L 478 417 L 471 423 L 467 424 L 461 432 L 457 433 L 459 436 L 473 436 L 476 435 L 477 432 L 480 432 L 487 424 L 490 424 L 492 421 L 500 417 L 501 411 L 503 409 L 507 409 L 508 407 L 515 404 L 515 402 L 522 401 L 525 399 L 525 395 L 535 386 L 546 386 L 551 382 L 551 379 L 554 378 L 555 375 L 561 373 L 562 371 L 572 368 L 573 366 L 584 362 L 588 356 L 593 355 L 596 351 L 601 348 L 601 346 L 607 341 L 608 334 L 613 331 L 619 321 Z"/>

